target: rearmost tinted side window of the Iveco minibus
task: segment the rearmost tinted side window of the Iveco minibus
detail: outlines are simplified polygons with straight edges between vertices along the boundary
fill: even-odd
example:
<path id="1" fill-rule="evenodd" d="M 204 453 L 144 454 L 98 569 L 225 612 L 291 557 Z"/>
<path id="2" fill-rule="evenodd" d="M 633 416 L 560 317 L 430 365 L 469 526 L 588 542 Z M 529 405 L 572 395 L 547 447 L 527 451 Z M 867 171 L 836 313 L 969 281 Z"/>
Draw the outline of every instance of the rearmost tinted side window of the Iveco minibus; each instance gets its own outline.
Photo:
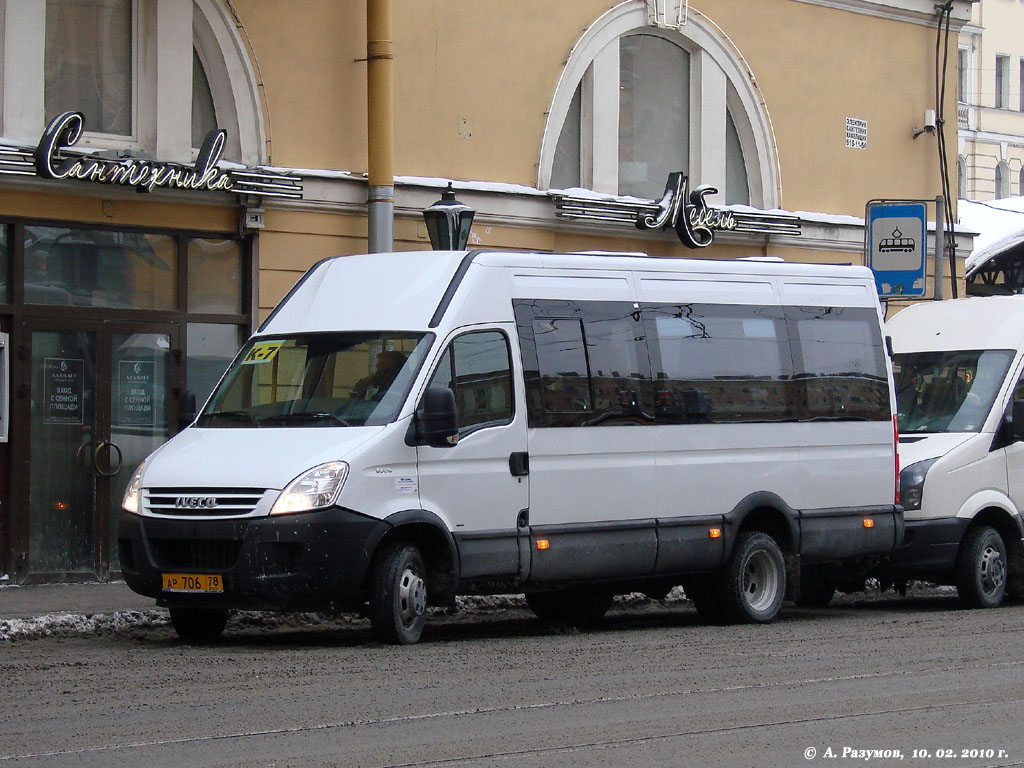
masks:
<path id="1" fill-rule="evenodd" d="M 790 307 L 786 311 L 801 418 L 890 419 L 886 353 L 874 310 Z"/>

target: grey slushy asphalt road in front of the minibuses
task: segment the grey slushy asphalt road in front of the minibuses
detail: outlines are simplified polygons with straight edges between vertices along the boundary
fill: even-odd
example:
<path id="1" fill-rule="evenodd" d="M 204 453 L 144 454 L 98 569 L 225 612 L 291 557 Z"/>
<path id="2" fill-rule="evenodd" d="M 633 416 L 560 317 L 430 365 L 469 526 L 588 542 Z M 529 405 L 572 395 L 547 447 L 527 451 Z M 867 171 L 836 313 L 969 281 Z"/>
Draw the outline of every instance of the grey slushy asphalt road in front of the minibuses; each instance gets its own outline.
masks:
<path id="1" fill-rule="evenodd" d="M 0 643 L 0 767 L 1024 765 L 1022 649 L 1024 605 L 935 591 L 766 627 L 633 601 L 586 633 L 513 601 L 413 647 L 357 620 L 128 627 Z"/>

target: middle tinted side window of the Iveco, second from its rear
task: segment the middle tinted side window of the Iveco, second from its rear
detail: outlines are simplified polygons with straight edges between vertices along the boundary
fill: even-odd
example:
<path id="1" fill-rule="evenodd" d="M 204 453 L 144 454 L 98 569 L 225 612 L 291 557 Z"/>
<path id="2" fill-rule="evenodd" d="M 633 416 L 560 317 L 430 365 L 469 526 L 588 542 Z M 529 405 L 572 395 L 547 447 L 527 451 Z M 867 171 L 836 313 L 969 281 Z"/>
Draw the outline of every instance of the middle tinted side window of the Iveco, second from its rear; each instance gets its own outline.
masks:
<path id="1" fill-rule="evenodd" d="M 781 309 L 674 304 L 646 306 L 643 314 L 659 422 L 794 418 Z"/>

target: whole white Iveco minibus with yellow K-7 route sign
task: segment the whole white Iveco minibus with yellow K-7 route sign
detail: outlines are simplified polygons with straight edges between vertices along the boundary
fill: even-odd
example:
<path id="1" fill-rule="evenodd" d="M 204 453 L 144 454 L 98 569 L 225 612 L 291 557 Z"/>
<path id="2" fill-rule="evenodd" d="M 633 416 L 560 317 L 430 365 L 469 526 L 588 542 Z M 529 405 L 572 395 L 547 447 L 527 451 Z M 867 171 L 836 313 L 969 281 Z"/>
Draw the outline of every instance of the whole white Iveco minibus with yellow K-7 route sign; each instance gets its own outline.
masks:
<path id="1" fill-rule="evenodd" d="M 338 257 L 135 472 L 119 554 L 186 639 L 337 608 L 413 643 L 460 594 L 579 625 L 677 585 L 768 622 L 902 539 L 895 429 L 863 268 Z"/>

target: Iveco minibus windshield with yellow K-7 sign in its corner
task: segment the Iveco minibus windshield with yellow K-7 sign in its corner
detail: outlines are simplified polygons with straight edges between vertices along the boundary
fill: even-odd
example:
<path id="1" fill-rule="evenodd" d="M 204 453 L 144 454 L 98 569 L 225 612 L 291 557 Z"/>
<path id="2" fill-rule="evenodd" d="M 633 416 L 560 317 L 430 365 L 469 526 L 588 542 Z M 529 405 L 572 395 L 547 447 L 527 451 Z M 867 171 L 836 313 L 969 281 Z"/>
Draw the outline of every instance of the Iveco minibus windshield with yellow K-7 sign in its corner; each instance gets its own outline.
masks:
<path id="1" fill-rule="evenodd" d="M 200 427 L 358 427 L 398 415 L 433 334 L 315 333 L 251 339 Z"/>

